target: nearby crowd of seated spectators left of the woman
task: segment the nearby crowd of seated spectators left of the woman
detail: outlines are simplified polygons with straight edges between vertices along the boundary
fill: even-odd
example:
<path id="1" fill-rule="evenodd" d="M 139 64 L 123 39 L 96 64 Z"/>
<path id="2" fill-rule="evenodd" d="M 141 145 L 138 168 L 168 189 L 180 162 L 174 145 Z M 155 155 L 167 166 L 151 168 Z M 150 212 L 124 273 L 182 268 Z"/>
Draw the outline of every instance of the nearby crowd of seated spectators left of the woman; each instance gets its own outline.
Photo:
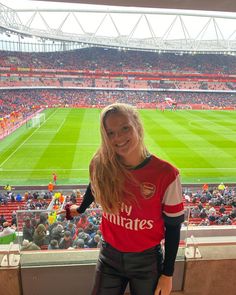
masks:
<path id="1" fill-rule="evenodd" d="M 20 198 L 17 199 L 17 196 Z M 50 191 L 26 191 L 23 195 L 11 191 L 0 193 L 0 206 L 18 202 L 18 209 L 23 210 L 16 218 L 16 211 L 12 212 L 11 224 L 7 222 L 4 214 L 0 216 L 0 236 L 5 233 L 5 227 L 15 232 L 16 228 L 22 232 L 22 250 L 40 249 L 77 249 L 96 248 L 101 244 L 101 209 L 95 204 L 86 213 L 66 220 L 65 215 L 56 216 L 55 212 L 48 213 L 45 210 L 49 203 L 54 202 L 53 210 L 59 209 L 56 204 L 62 196 L 58 192 Z M 65 204 L 76 203 L 80 200 L 80 191 L 73 191 L 63 197 Z M 59 198 L 57 198 L 59 197 Z M 22 204 L 22 201 L 23 204 Z M 55 205 L 55 206 L 54 206 Z M 18 221 L 18 222 L 17 222 Z"/>

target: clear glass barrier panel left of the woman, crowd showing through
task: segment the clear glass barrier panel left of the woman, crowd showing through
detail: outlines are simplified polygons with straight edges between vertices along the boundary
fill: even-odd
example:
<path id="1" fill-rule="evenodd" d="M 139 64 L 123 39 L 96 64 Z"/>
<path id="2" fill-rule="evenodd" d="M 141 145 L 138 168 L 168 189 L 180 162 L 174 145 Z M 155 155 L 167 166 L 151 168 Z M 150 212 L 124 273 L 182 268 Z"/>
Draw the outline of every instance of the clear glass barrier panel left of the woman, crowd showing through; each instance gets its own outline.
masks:
<path id="1" fill-rule="evenodd" d="M 58 203 L 53 199 L 49 209 L 17 211 L 17 243 L 21 265 L 97 261 L 96 248 L 100 248 L 101 244 L 101 209 L 90 208 L 72 220 L 67 220 L 65 214 L 57 215 L 55 211 L 62 209 L 63 205 L 64 200 Z"/>

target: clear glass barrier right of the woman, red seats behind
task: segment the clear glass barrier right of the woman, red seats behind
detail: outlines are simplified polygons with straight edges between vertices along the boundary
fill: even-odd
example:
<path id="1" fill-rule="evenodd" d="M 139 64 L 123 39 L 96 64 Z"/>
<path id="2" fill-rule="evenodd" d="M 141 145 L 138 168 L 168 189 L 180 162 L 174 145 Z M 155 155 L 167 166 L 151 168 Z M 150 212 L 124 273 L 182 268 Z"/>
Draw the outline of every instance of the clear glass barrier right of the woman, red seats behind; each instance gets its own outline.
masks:
<path id="1" fill-rule="evenodd" d="M 186 245 L 186 258 L 202 257 L 200 248 L 203 246 L 235 243 L 235 187 L 220 189 L 219 185 L 204 190 L 204 186 L 183 189 L 185 222 L 181 240 Z"/>

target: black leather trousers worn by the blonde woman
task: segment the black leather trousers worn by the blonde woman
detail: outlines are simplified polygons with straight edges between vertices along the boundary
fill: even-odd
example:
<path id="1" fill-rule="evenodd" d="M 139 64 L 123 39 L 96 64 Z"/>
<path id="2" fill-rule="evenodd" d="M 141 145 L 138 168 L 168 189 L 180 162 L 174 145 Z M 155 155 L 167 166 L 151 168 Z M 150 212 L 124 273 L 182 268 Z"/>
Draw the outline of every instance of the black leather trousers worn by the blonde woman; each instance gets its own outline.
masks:
<path id="1" fill-rule="evenodd" d="M 103 242 L 91 295 L 122 295 L 129 283 L 132 295 L 153 295 L 161 275 L 160 245 L 124 253 Z"/>

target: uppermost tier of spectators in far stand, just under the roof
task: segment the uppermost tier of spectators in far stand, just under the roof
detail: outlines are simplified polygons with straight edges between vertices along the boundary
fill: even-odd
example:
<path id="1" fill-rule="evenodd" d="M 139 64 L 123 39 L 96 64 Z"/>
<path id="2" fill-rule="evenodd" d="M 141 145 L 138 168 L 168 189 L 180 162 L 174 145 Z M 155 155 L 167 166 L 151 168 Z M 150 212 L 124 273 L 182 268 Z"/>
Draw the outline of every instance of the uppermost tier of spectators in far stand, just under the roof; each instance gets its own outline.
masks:
<path id="1" fill-rule="evenodd" d="M 120 51 L 108 48 L 48 53 L 1 51 L 0 67 L 235 74 L 236 58 L 219 54 Z"/>

